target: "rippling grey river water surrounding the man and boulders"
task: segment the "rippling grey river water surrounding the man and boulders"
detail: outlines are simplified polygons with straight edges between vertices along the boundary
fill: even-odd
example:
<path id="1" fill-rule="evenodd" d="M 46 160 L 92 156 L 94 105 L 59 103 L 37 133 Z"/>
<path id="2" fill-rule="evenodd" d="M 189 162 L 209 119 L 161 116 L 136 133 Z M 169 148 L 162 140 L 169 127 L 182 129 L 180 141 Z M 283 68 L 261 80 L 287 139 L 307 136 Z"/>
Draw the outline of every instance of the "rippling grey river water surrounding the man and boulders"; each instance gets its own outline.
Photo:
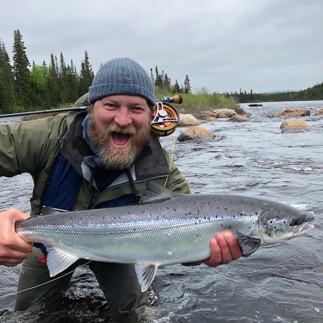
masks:
<path id="1" fill-rule="evenodd" d="M 192 193 L 233 193 L 272 199 L 315 214 L 315 229 L 229 265 L 164 266 L 150 288 L 155 322 L 323 322 L 323 101 L 241 105 L 251 122 L 209 122 L 213 142 L 175 141 L 174 161 Z M 307 108 L 308 130 L 282 133 L 286 118 L 266 118 L 284 108 Z M 11 122 L 14 119 L 3 119 Z M 17 120 L 17 119 L 16 119 Z M 184 131 L 179 128 L 176 137 Z M 172 150 L 173 136 L 161 138 Z M 29 212 L 32 179 L 0 177 L 0 210 Z M 0 295 L 14 292 L 20 266 L 0 267 Z M 109 322 L 109 311 L 88 268 L 69 289 L 14 313 L 14 296 L 0 298 L 0 322 Z M 159 318 L 157 318 L 157 315 Z"/>

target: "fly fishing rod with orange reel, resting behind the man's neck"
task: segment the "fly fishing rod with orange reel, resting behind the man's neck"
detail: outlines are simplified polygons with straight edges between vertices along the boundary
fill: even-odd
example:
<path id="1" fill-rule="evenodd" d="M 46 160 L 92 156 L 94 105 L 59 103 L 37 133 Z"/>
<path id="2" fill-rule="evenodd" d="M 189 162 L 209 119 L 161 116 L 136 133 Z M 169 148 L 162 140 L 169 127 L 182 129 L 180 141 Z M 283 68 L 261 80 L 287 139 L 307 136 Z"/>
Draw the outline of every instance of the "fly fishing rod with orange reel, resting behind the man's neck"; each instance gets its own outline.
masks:
<path id="1" fill-rule="evenodd" d="M 172 97 L 162 97 L 160 99 L 156 99 L 156 105 L 154 106 L 154 112 L 152 114 L 153 120 L 151 121 L 151 131 L 155 136 L 169 136 L 175 131 L 179 122 L 179 114 L 175 107 L 173 107 L 170 103 L 181 104 L 182 102 L 183 97 L 180 94 L 174 95 Z M 1 114 L 0 118 L 28 116 L 31 114 L 42 113 L 46 114 L 53 112 L 82 111 L 90 107 L 91 106 L 8 113 Z"/>

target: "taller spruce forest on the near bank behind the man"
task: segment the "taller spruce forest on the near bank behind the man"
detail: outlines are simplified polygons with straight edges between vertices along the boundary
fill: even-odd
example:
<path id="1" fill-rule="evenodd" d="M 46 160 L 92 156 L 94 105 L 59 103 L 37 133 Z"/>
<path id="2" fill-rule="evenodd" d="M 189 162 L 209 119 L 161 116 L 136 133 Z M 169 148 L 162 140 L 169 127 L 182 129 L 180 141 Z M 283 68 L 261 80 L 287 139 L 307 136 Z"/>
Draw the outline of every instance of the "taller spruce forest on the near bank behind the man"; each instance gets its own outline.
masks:
<path id="1" fill-rule="evenodd" d="M 71 60 L 66 63 L 62 52 L 59 59 L 51 53 L 49 64 L 33 61 L 30 64 L 26 47 L 19 29 L 14 31 L 12 64 L 0 39 L 0 112 L 15 113 L 41 110 L 75 102 L 89 91 L 94 73 L 89 63 L 88 52 L 84 52 L 81 70 L 77 72 Z M 102 65 L 102 64 L 101 64 Z M 184 86 L 171 79 L 164 71 L 159 74 L 157 66 L 151 79 L 159 93 L 190 93 L 190 80 L 186 75 Z"/>

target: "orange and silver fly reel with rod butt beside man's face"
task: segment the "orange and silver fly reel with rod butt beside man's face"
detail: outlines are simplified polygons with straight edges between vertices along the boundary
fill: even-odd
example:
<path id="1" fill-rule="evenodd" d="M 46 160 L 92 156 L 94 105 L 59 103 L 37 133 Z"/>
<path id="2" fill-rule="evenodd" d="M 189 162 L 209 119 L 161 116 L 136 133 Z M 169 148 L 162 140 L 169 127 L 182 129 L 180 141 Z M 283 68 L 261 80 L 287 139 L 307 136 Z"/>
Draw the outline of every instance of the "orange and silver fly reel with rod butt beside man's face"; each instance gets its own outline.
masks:
<path id="1" fill-rule="evenodd" d="M 177 110 L 170 103 L 181 104 L 182 101 L 180 94 L 156 99 L 157 104 L 154 107 L 155 111 L 151 121 L 151 131 L 155 136 L 166 137 L 176 130 L 180 118 Z"/>

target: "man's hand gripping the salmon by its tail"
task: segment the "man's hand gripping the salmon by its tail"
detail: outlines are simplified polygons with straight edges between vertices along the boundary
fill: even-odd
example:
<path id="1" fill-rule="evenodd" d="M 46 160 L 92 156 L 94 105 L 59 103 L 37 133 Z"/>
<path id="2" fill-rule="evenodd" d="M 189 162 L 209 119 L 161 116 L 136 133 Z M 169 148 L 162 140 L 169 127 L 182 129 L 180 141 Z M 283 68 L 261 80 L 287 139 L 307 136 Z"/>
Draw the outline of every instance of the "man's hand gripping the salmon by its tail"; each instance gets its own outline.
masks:
<path id="1" fill-rule="evenodd" d="M 15 223 L 29 215 L 16 209 L 0 212 L 0 265 L 15 267 L 28 258 L 33 244 L 15 231 Z"/>

